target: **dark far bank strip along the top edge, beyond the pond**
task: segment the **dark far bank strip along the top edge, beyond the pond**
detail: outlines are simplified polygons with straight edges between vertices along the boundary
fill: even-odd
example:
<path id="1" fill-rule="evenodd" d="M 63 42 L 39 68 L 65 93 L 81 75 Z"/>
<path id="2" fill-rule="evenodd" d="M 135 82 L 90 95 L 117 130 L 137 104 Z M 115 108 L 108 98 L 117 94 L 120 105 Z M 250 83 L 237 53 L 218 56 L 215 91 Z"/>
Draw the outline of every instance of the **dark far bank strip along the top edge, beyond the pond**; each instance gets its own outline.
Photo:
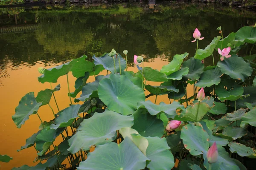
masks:
<path id="1" fill-rule="evenodd" d="M 22 6 L 41 6 L 45 4 L 86 4 L 86 3 L 122 3 L 129 1 L 144 2 L 147 0 L 25 0 L 21 4 L 3 5 L 0 8 L 5 7 L 22 7 Z M 164 1 L 164 0 L 163 0 Z M 166 0 L 169 2 L 193 2 L 193 3 L 218 3 L 227 6 L 242 7 L 256 9 L 256 0 Z"/>

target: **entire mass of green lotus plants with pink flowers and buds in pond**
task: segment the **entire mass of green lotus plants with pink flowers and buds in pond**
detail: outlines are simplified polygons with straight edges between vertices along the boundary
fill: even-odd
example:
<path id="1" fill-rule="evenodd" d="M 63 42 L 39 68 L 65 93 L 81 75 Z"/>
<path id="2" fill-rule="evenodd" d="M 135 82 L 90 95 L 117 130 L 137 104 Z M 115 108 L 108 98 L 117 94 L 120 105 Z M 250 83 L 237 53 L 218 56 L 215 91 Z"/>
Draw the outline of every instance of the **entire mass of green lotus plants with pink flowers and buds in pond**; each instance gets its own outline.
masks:
<path id="1" fill-rule="evenodd" d="M 255 43 L 256 28 L 247 26 L 225 38 L 215 37 L 194 57 L 185 60 L 188 53 L 175 55 L 160 71 L 151 67 L 125 71 L 127 59 L 114 49 L 93 56 L 93 61 L 83 55 L 54 68 L 40 68 L 41 83 L 67 77 L 70 105 L 56 114 L 49 105 L 60 85 L 36 97 L 29 92 L 20 100 L 12 116 L 17 127 L 29 116 L 37 115 L 41 121 L 40 130 L 20 150 L 33 146 L 36 161 L 47 161 L 13 169 L 64 169 L 63 161 L 68 160 L 67 166 L 78 170 L 170 170 L 174 166 L 246 170 L 256 158 L 256 79 L 251 67 L 255 67 L 256 55 L 251 54 Z M 240 50 L 247 47 L 249 56 L 241 57 Z M 219 56 L 218 49 L 226 58 L 205 67 L 201 60 Z M 143 63 L 143 57 L 134 56 L 134 63 Z M 110 74 L 99 75 L 104 69 Z M 74 92 L 70 92 L 69 73 L 77 78 Z M 95 81 L 87 82 L 89 76 Z M 187 87 L 194 89 L 191 96 Z M 149 95 L 145 96 L 144 88 Z M 159 95 L 168 95 L 170 104 L 157 105 Z M 155 96 L 154 103 L 145 101 L 149 96 Z M 38 110 L 45 105 L 53 117 L 43 122 Z M 57 146 L 58 136 L 63 142 Z"/>

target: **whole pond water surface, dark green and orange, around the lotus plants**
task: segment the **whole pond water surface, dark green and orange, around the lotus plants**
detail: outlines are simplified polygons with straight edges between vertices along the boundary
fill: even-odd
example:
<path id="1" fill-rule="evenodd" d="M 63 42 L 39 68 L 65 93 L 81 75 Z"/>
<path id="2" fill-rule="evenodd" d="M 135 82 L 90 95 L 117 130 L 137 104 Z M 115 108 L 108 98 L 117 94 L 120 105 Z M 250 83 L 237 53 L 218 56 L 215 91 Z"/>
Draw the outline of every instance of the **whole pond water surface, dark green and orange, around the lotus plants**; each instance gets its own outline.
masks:
<path id="1" fill-rule="evenodd" d="M 115 48 L 119 53 L 128 50 L 130 71 L 137 70 L 132 63 L 134 54 L 145 57 L 144 66 L 160 70 L 175 54 L 188 52 L 193 56 L 196 44 L 191 41 L 196 27 L 205 37 L 198 47 L 205 48 L 219 35 L 218 26 L 226 37 L 255 22 L 253 11 L 204 3 L 150 1 L 0 8 L 0 154 L 13 157 L 9 163 L 0 163 L 0 169 L 34 164 L 36 152 L 33 147 L 16 150 L 38 131 L 40 121 L 32 115 L 18 129 L 12 115 L 26 93 L 34 91 L 37 94 L 50 88 L 49 84 L 38 82 L 38 67 L 49 68 L 83 54 L 90 59 L 93 54 L 100 56 Z M 205 64 L 208 62 L 212 59 L 206 59 Z M 91 77 L 89 82 L 93 80 Z M 73 91 L 75 79 L 71 78 L 70 82 Z M 69 103 L 65 77 L 58 79 L 58 83 L 63 84 L 61 91 L 56 93 L 62 109 Z M 153 97 L 148 99 L 154 100 Z M 169 99 L 162 97 L 158 101 L 168 103 Z M 43 120 L 52 119 L 48 107 L 40 108 L 38 113 Z"/>

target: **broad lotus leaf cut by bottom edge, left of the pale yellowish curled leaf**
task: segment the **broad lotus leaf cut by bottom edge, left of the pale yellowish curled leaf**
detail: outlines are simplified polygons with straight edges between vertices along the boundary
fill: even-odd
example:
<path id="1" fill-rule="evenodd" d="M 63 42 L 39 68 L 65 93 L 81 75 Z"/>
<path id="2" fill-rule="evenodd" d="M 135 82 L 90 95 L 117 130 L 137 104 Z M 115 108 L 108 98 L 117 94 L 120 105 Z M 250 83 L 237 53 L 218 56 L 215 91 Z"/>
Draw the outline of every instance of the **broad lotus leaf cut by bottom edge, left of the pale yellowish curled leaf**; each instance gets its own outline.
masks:
<path id="1" fill-rule="evenodd" d="M 109 142 L 97 146 L 77 170 L 142 170 L 146 161 L 150 160 L 126 137 L 121 144 Z"/>

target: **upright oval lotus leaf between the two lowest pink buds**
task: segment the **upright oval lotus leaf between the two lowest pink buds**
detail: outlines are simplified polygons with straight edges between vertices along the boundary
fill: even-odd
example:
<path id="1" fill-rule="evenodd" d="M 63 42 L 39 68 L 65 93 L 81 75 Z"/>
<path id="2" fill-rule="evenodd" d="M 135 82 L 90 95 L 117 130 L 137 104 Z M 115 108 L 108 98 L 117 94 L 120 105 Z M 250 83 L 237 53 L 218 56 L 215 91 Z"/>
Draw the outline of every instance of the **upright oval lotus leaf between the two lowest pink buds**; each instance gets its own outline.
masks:
<path id="1" fill-rule="evenodd" d="M 182 127 L 180 139 L 184 147 L 194 156 L 205 155 L 209 148 L 209 135 L 201 126 L 187 124 Z"/>

